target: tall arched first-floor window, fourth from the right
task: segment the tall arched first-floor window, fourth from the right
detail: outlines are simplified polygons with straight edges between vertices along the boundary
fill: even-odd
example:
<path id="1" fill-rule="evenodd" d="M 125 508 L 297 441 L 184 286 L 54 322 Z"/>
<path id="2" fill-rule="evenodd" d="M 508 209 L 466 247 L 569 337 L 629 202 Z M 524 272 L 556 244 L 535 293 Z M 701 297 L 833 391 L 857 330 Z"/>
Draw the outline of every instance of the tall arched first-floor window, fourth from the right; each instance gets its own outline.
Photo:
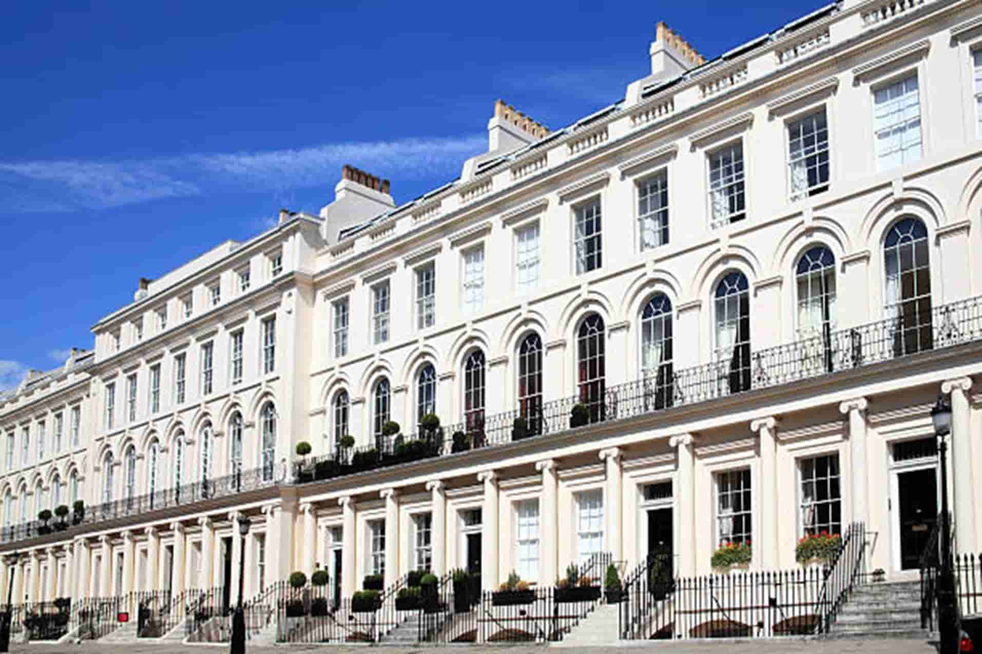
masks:
<path id="1" fill-rule="evenodd" d="M 646 406 L 672 406 L 672 372 L 672 301 L 658 294 L 641 311 L 641 374 Z"/>

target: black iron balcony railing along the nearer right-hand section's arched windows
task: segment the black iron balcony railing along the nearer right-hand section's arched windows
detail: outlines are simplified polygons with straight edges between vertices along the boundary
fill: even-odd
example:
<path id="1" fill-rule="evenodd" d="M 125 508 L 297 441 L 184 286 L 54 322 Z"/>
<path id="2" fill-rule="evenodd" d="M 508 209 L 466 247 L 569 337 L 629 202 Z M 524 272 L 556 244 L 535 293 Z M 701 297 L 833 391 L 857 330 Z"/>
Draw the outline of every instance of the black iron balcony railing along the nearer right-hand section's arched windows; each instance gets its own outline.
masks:
<path id="1" fill-rule="evenodd" d="M 734 355 L 681 370 L 663 362 L 639 379 L 615 386 L 594 381 L 552 402 L 533 398 L 519 409 L 472 413 L 459 424 L 408 436 L 379 436 L 368 445 L 308 458 L 298 463 L 294 478 L 305 483 L 460 454 L 587 424 L 709 402 L 980 338 L 982 298 L 936 306 L 916 315 L 900 311 L 896 317 L 826 330 L 774 348 L 756 352 L 748 346 L 737 348 Z"/>

